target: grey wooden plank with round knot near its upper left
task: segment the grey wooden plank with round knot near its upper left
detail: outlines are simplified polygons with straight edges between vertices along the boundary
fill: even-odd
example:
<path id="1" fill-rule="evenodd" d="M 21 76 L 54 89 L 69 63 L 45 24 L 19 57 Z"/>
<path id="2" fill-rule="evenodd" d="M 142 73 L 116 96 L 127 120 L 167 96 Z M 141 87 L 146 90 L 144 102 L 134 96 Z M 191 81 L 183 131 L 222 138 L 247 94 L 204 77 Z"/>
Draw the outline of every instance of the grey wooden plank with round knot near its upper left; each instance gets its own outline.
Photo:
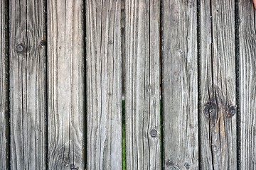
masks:
<path id="1" fill-rule="evenodd" d="M 43 0 L 10 1 L 11 169 L 46 169 Z"/>

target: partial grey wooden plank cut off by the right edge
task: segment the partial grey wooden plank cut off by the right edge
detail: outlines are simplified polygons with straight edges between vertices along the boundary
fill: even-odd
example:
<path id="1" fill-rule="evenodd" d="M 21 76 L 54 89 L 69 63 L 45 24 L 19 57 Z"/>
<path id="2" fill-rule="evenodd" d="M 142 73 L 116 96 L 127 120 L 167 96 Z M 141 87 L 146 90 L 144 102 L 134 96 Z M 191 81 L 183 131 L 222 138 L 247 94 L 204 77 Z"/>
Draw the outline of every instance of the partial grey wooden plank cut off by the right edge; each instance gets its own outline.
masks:
<path id="1" fill-rule="evenodd" d="M 256 169 L 256 18 L 252 1 L 239 1 L 240 168 Z"/>

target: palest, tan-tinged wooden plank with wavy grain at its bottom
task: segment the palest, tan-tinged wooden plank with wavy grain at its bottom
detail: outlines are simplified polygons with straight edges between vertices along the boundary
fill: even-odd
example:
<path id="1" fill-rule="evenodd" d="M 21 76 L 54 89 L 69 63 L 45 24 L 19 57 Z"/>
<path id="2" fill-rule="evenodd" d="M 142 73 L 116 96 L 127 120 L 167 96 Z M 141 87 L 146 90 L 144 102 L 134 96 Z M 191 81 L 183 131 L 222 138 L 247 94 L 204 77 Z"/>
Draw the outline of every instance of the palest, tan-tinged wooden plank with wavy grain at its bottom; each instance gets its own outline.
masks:
<path id="1" fill-rule="evenodd" d="M 85 169 L 83 1 L 47 1 L 48 169 Z"/>

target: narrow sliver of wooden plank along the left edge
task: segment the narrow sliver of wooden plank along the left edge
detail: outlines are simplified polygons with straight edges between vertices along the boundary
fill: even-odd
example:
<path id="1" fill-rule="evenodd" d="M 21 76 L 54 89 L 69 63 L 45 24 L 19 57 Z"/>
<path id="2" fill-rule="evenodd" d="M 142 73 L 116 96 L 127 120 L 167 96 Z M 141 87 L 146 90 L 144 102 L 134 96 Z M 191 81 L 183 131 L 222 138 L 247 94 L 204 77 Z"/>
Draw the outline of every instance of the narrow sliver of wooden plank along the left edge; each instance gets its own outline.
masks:
<path id="1" fill-rule="evenodd" d="M 0 1 L 0 19 L 1 19 L 1 26 L 0 26 L 0 169 L 7 169 L 8 162 L 7 162 L 7 154 L 8 154 L 8 143 L 7 136 L 6 136 L 6 129 L 9 116 L 8 113 L 8 106 L 6 100 L 8 100 L 7 95 L 9 90 L 7 89 L 7 75 L 6 75 L 6 66 L 8 65 L 8 56 L 7 56 L 7 27 L 6 21 L 6 1 Z"/>

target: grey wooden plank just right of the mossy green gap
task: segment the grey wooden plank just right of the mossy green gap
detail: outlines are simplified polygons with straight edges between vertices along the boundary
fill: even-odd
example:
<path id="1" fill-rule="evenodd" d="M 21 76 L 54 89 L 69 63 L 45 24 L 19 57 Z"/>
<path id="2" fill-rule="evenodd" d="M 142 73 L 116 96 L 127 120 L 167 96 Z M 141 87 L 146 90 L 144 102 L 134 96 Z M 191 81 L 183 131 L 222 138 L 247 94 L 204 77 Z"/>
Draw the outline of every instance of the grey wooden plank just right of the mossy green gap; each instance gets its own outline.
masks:
<path id="1" fill-rule="evenodd" d="M 127 169 L 161 169 L 160 1 L 124 2 Z"/>

